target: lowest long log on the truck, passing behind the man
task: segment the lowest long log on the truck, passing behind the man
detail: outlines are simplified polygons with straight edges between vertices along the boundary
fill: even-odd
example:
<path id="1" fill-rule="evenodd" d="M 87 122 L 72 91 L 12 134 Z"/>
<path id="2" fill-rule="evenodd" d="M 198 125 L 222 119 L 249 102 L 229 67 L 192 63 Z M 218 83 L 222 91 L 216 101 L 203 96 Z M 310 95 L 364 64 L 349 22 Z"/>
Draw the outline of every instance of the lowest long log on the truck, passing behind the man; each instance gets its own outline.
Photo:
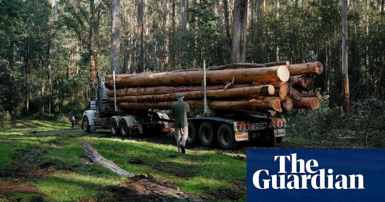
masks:
<path id="1" fill-rule="evenodd" d="M 202 100 L 185 100 L 192 109 L 202 109 Z M 123 109 L 171 109 L 174 101 L 164 102 L 119 102 L 118 106 Z M 110 102 L 114 107 L 114 102 Z M 275 110 L 282 112 L 279 100 L 213 100 L 209 101 L 209 107 L 214 110 Z"/>

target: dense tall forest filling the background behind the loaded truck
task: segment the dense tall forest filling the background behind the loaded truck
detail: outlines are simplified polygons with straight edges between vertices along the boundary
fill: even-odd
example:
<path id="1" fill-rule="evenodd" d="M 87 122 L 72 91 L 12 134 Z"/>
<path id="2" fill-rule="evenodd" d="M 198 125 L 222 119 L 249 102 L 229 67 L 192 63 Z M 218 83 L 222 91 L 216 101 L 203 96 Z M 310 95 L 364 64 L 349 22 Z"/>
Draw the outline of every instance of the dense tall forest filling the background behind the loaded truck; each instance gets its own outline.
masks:
<path id="1" fill-rule="evenodd" d="M 0 112 L 81 116 L 95 72 L 112 69 L 114 3 L 117 73 L 319 61 L 315 88 L 331 107 L 343 102 L 338 0 L 0 0 Z M 385 95 L 383 8 L 348 1 L 351 101 Z"/>

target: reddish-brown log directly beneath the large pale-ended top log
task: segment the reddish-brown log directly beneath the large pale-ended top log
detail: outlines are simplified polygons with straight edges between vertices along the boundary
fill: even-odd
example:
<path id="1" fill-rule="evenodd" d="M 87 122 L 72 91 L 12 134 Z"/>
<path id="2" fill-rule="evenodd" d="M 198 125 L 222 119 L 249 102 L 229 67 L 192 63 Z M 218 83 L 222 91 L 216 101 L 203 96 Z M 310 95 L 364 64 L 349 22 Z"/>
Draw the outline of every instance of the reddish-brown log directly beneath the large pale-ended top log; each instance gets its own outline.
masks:
<path id="1" fill-rule="evenodd" d="M 229 86 L 230 88 L 244 88 L 255 86 L 253 83 L 239 83 Z M 226 84 L 222 85 L 208 85 L 206 90 L 219 90 L 226 89 Z M 116 89 L 116 96 L 136 96 L 136 95 L 161 95 L 169 93 L 190 92 L 190 91 L 202 91 L 203 87 L 200 85 L 195 86 L 157 86 L 157 87 L 136 87 L 136 88 L 119 88 Z M 114 90 L 107 91 L 108 97 L 114 97 Z"/>

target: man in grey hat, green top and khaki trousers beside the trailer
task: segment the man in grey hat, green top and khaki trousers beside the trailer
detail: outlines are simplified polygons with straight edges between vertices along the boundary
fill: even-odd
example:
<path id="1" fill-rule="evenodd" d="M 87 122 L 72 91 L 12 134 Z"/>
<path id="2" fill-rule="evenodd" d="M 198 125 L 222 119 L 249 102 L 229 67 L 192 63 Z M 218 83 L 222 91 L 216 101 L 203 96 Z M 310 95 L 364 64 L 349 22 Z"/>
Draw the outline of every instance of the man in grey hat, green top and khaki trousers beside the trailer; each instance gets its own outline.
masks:
<path id="1" fill-rule="evenodd" d="M 188 135 L 187 113 L 190 112 L 190 106 L 186 102 L 183 102 L 183 93 L 178 93 L 176 97 L 178 101 L 172 104 L 171 113 L 175 117 L 174 129 L 178 152 L 184 154 L 186 152 L 184 147 L 186 146 Z"/>

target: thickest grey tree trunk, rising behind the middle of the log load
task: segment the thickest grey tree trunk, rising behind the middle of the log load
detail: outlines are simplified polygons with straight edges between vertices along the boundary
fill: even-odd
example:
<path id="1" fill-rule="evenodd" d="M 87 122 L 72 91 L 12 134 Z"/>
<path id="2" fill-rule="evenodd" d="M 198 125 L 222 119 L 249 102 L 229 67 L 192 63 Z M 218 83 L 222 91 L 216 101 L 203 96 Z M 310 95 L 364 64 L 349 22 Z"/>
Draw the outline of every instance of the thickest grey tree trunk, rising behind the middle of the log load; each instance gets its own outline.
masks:
<path id="1" fill-rule="evenodd" d="M 234 0 L 231 62 L 246 62 L 247 0 Z"/>

